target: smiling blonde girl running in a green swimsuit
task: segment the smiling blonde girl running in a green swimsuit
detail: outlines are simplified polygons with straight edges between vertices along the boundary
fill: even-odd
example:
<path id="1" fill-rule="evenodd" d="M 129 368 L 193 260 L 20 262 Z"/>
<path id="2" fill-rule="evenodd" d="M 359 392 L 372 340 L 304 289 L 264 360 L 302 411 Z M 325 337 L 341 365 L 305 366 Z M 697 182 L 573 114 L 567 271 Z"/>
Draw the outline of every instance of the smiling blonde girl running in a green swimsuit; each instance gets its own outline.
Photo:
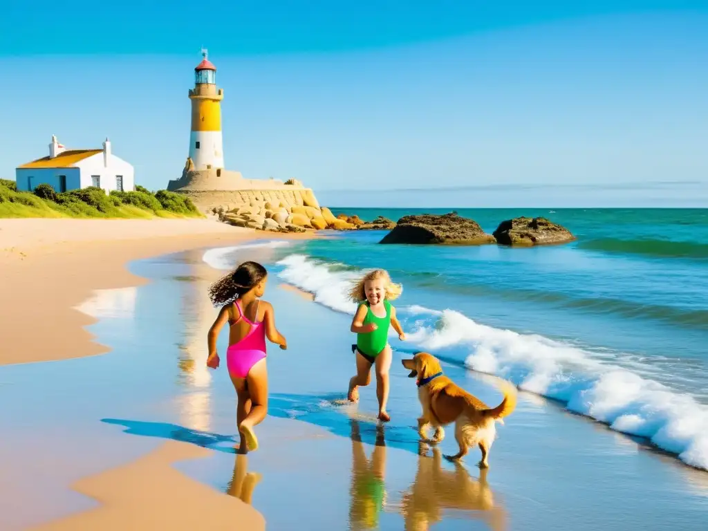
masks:
<path id="1" fill-rule="evenodd" d="M 399 284 L 391 282 L 389 273 L 383 269 L 373 270 L 359 280 L 349 292 L 349 298 L 359 303 L 352 321 L 351 331 L 357 334 L 357 342 L 352 345 L 356 357 L 356 375 L 349 380 L 349 401 L 359 401 L 358 387 L 371 381 L 371 367 L 376 365 L 376 396 L 379 399 L 379 420 L 391 420 L 386 411 L 389 400 L 389 369 L 392 352 L 389 346 L 389 326 L 393 326 L 399 339 L 405 341 L 406 334 L 396 319 L 396 309 L 389 300 L 401 295 Z"/>

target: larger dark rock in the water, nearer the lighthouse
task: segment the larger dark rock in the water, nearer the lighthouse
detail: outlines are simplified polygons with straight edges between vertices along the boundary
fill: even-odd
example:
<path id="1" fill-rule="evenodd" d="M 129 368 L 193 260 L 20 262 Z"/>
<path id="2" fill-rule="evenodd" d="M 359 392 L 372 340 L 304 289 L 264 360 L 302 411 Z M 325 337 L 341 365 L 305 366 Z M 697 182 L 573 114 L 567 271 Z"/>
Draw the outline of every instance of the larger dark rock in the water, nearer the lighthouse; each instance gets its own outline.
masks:
<path id="1" fill-rule="evenodd" d="M 494 241 L 494 236 L 486 234 L 474 219 L 450 212 L 401 217 L 379 244 L 482 245 Z"/>

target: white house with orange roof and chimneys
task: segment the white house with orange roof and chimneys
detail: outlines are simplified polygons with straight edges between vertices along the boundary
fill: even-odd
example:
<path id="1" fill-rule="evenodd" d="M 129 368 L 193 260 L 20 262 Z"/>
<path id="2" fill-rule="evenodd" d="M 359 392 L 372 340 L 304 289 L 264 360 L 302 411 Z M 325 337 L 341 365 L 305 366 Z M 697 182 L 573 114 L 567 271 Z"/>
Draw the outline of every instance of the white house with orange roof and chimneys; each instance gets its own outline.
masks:
<path id="1" fill-rule="evenodd" d="M 131 164 L 115 156 L 108 138 L 103 149 L 66 149 L 52 135 L 49 156 L 18 166 L 15 170 L 17 189 L 31 192 L 42 183 L 57 192 L 97 186 L 111 190 L 135 190 Z"/>

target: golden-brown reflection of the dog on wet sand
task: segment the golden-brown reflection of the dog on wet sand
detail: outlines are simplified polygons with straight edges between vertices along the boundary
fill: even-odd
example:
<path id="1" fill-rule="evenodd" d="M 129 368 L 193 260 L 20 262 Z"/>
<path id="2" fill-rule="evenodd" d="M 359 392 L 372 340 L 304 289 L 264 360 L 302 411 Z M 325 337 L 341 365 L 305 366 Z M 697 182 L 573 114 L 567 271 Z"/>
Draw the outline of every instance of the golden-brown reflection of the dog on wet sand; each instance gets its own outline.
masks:
<path id="1" fill-rule="evenodd" d="M 419 443 L 418 454 L 416 479 L 401 500 L 406 531 L 430 529 L 442 520 L 444 510 L 464 511 L 468 518 L 484 520 L 493 531 L 506 530 L 506 511 L 494 503 L 486 469 L 479 472 L 479 479 L 459 462 L 454 472 L 442 469 L 440 449 L 433 447 L 433 457 L 428 457 L 424 442 Z"/>

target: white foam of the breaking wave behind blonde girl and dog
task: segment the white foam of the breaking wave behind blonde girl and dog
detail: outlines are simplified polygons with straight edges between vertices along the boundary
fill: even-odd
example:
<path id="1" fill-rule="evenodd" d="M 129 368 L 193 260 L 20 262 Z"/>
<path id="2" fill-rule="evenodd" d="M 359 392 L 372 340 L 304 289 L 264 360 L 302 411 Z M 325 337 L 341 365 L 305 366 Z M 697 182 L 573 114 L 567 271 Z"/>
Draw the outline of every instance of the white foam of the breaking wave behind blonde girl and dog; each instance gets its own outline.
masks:
<path id="1" fill-rule="evenodd" d="M 361 271 L 304 255 L 278 262 L 282 280 L 311 292 L 337 312 L 353 314 L 346 292 Z M 408 342 L 431 353 L 457 357 L 464 365 L 509 379 L 520 389 L 561 401 L 570 411 L 638 435 L 708 470 L 708 408 L 602 356 L 544 336 L 479 324 L 453 309 L 399 307 Z"/>

